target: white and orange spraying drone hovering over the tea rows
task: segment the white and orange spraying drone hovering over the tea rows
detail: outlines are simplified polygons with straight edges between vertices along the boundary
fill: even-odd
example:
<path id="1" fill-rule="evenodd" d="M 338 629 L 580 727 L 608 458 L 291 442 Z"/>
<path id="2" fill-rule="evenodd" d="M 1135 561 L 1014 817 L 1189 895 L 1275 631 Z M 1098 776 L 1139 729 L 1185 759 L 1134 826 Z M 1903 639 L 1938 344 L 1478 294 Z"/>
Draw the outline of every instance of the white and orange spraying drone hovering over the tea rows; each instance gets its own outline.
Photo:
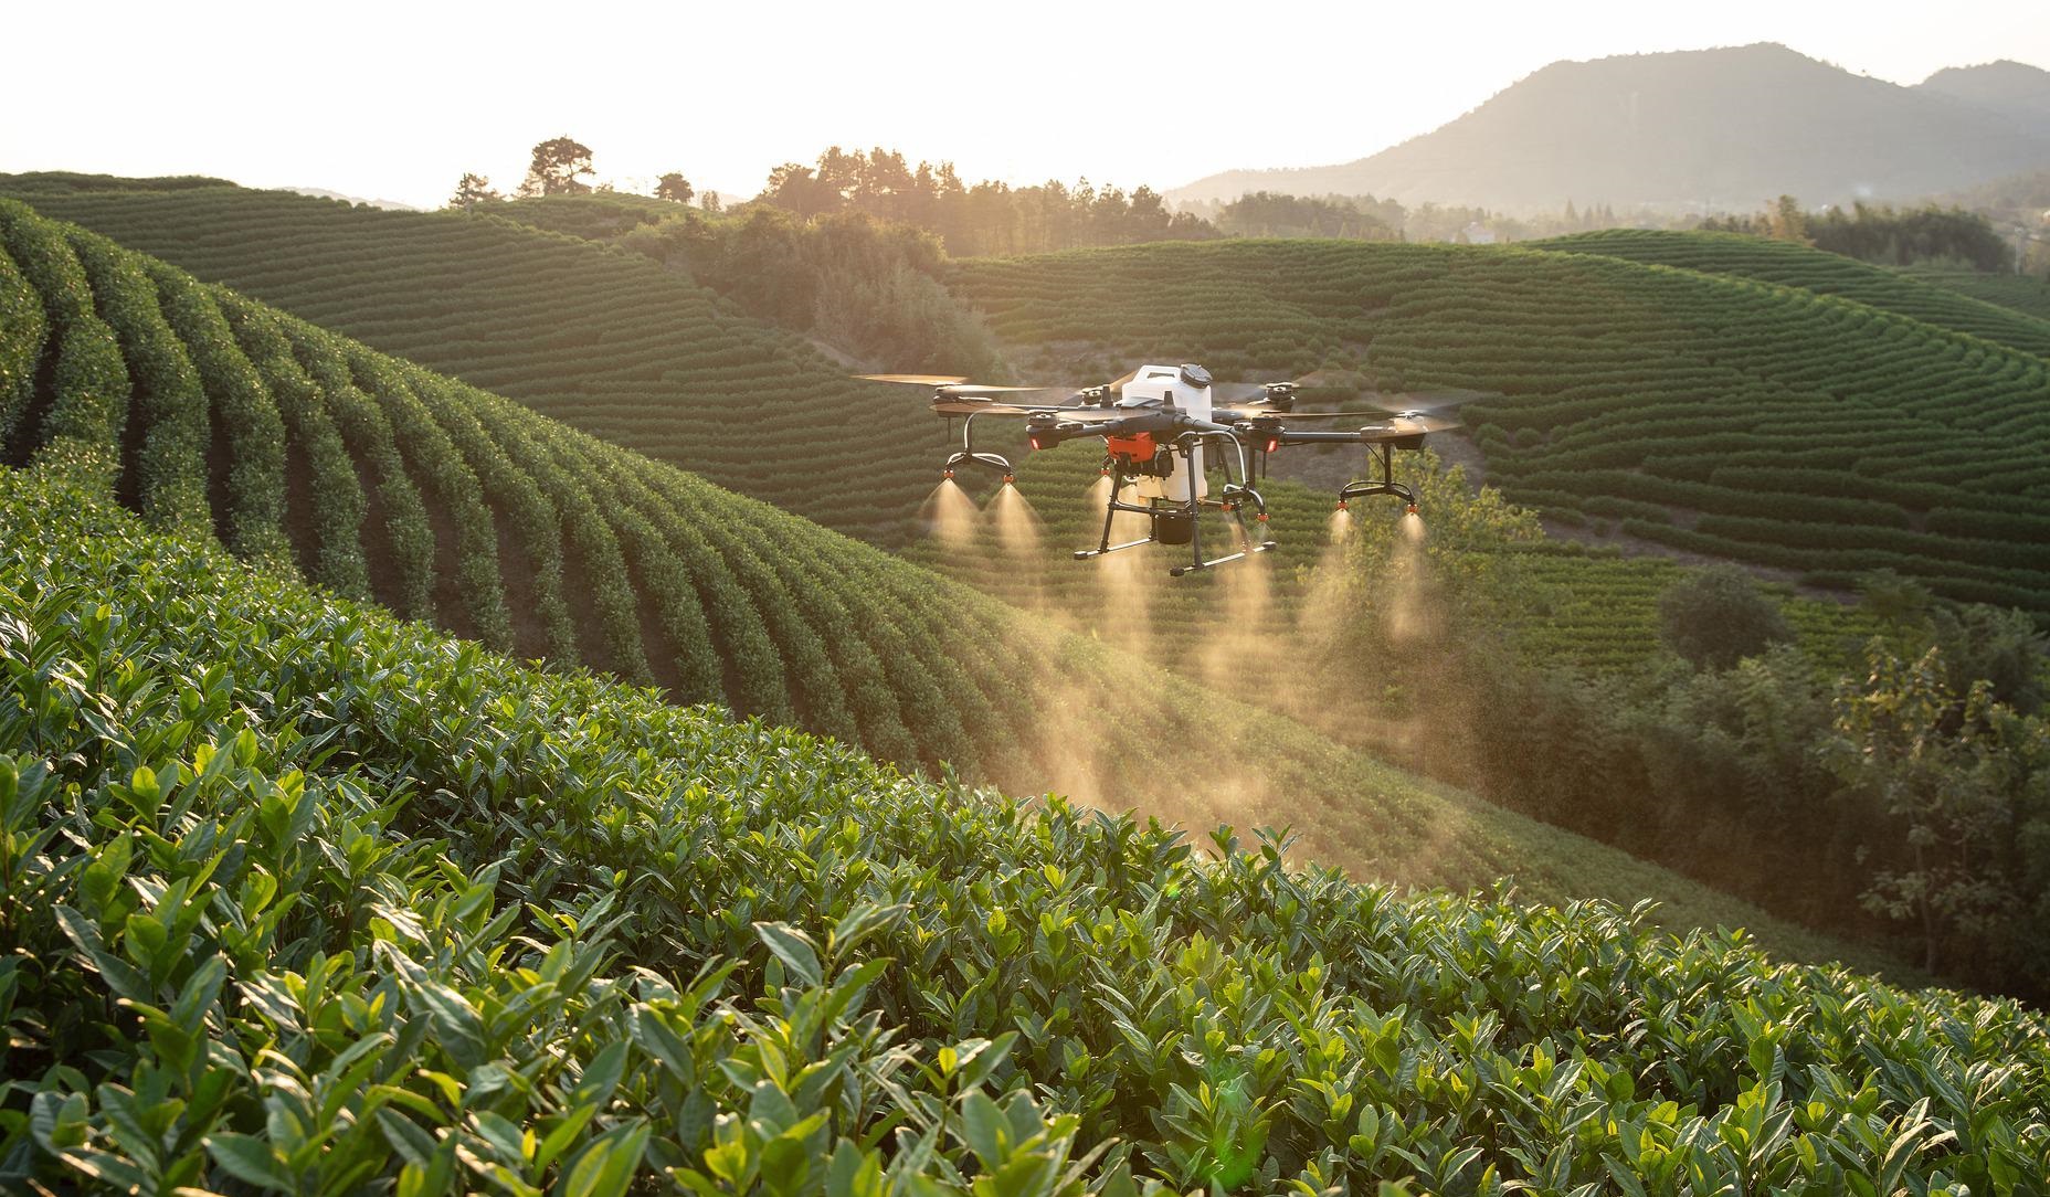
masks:
<path id="1" fill-rule="evenodd" d="M 1052 449 L 1062 441 L 1097 437 L 1105 445 L 1103 473 L 1111 480 L 1103 510 L 1103 537 L 1093 549 L 1076 549 L 1084 562 L 1140 545 L 1187 545 L 1189 564 L 1168 570 L 1173 576 L 1212 570 L 1275 547 L 1267 539 L 1267 502 L 1253 488 L 1255 476 L 1267 476 L 1267 455 L 1294 445 L 1365 445 L 1367 478 L 1347 482 L 1339 490 L 1339 508 L 1355 498 L 1390 494 L 1417 510 L 1417 494 L 1394 480 L 1394 451 L 1421 449 L 1427 432 L 1451 426 L 1449 420 L 1425 410 L 1363 408 L 1351 412 L 1296 412 L 1296 394 L 1310 379 L 1279 383 L 1216 383 L 1199 365 L 1142 365 L 1113 383 L 1076 389 L 1060 404 L 1015 400 L 1019 391 L 1050 391 L 1056 387 L 982 385 L 949 375 L 859 375 L 869 381 L 933 387 L 933 412 L 961 420 L 961 447 L 941 467 L 945 478 L 963 465 L 978 465 L 1011 484 L 1015 471 L 1000 453 L 976 449 L 976 420 L 982 416 L 1021 416 L 1025 439 L 1033 449 Z M 1353 430 L 1302 428 L 1304 422 L 1367 418 Z M 1224 490 L 1210 496 L 1205 467 L 1214 457 L 1224 473 Z M 1378 473 L 1378 478 L 1373 476 Z M 1130 496 L 1128 496 L 1130 490 Z M 1238 537 L 1238 551 L 1203 558 L 1199 531 L 1201 510 L 1222 510 Z M 1261 535 L 1246 529 L 1244 512 Z M 1111 523 L 1117 512 L 1146 517 L 1144 539 L 1111 543 Z"/>

